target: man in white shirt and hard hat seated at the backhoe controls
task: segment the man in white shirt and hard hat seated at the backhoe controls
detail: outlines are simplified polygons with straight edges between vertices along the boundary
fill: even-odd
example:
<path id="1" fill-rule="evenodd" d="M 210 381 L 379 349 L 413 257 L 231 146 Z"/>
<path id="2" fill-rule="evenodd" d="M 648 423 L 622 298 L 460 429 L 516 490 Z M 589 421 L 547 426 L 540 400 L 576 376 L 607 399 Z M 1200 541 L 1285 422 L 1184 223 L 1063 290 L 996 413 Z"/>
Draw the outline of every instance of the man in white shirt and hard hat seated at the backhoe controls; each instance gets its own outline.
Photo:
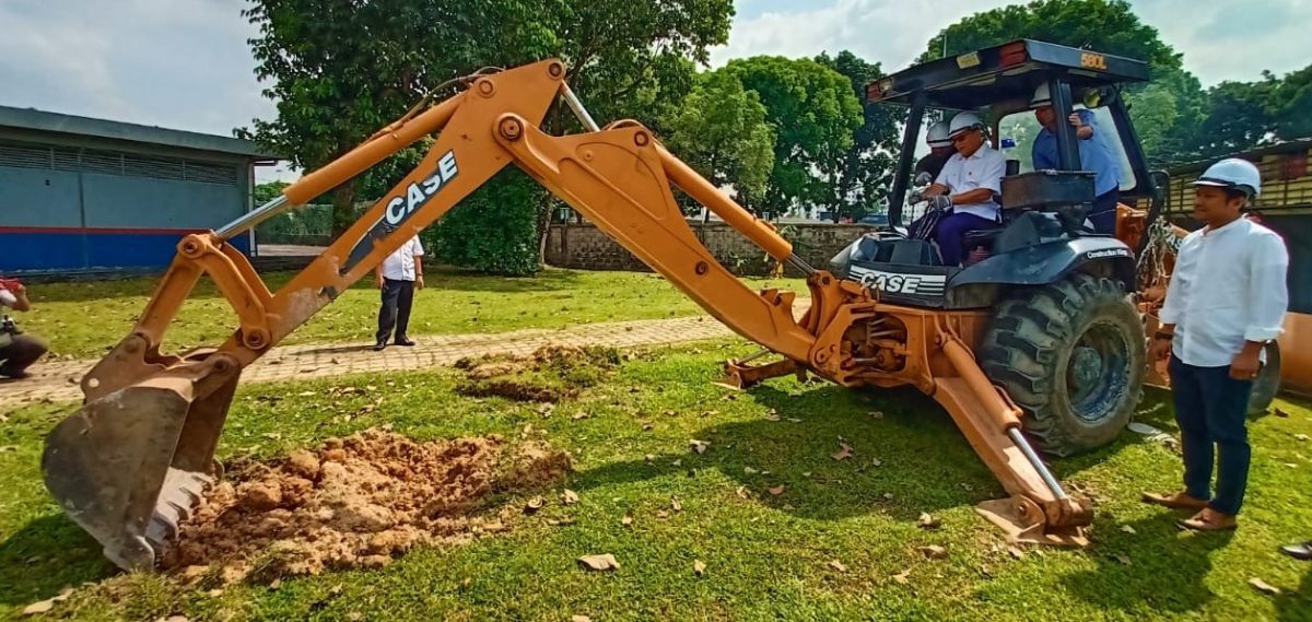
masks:
<path id="1" fill-rule="evenodd" d="M 960 265 L 966 234 L 998 226 L 998 205 L 1006 159 L 988 146 L 984 122 L 975 113 L 958 113 L 947 126 L 956 154 L 947 159 L 934 185 L 912 193 L 911 202 L 926 201 L 929 213 L 909 227 L 912 238 L 934 238 L 943 265 Z"/>

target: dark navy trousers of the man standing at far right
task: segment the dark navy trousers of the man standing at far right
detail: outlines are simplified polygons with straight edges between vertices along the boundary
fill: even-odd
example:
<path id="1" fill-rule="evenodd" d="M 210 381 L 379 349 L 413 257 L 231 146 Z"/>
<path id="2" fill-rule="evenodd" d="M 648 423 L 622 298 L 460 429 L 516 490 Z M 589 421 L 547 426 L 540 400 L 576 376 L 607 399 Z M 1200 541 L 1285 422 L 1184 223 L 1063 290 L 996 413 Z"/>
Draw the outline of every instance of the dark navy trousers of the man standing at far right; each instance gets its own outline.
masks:
<path id="1" fill-rule="evenodd" d="M 1218 512 L 1239 514 L 1252 457 L 1244 424 L 1253 381 L 1231 378 L 1229 366 L 1195 367 L 1172 356 L 1170 392 L 1185 453 L 1185 491 L 1195 499 L 1210 499 Z M 1214 465 L 1218 465 L 1215 496 Z"/>

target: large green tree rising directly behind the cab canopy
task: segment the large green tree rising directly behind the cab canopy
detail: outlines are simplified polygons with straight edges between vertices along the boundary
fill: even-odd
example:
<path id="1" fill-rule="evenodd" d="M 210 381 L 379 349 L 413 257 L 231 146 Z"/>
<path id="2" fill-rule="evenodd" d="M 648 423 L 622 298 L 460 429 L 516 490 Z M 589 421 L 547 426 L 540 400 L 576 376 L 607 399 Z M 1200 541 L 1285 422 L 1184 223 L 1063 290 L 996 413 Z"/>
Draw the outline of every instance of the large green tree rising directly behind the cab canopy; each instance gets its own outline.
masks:
<path id="1" fill-rule="evenodd" d="M 1135 129 L 1148 159 L 1169 164 L 1197 157 L 1206 93 L 1183 70 L 1181 54 L 1144 24 L 1124 0 L 1035 0 L 975 13 L 932 38 L 920 60 L 951 56 L 1015 39 L 1039 39 L 1148 62 L 1151 85 L 1128 89 Z M 943 45 L 946 39 L 946 46 Z M 1157 85 L 1155 91 L 1153 85 Z M 1168 121 L 1170 126 L 1160 126 Z"/>

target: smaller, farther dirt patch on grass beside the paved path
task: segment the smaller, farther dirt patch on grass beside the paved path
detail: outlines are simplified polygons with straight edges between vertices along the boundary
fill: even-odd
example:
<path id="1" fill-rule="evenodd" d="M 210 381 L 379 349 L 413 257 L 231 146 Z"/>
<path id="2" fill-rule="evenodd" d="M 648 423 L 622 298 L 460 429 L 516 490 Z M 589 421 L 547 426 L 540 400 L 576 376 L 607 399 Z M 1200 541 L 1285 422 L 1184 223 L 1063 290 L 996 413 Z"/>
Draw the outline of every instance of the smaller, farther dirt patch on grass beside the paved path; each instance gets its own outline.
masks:
<path id="1" fill-rule="evenodd" d="M 619 365 L 614 348 L 546 345 L 527 357 L 462 358 L 464 378 L 455 391 L 472 398 L 560 402 L 605 381 Z"/>

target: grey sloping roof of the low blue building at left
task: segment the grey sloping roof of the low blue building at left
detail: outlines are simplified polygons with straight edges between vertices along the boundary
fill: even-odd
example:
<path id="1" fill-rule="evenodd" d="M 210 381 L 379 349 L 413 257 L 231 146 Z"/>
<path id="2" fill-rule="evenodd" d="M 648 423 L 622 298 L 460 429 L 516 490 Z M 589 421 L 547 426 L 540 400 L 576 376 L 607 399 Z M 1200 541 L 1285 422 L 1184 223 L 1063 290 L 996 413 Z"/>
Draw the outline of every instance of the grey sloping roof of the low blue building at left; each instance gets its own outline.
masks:
<path id="1" fill-rule="evenodd" d="M 261 150 L 260 146 L 251 140 L 240 138 L 50 113 L 37 110 L 35 108 L 0 106 L 0 129 L 4 127 L 129 140 L 143 144 L 163 144 L 185 150 L 240 155 L 258 160 L 285 159 Z"/>

